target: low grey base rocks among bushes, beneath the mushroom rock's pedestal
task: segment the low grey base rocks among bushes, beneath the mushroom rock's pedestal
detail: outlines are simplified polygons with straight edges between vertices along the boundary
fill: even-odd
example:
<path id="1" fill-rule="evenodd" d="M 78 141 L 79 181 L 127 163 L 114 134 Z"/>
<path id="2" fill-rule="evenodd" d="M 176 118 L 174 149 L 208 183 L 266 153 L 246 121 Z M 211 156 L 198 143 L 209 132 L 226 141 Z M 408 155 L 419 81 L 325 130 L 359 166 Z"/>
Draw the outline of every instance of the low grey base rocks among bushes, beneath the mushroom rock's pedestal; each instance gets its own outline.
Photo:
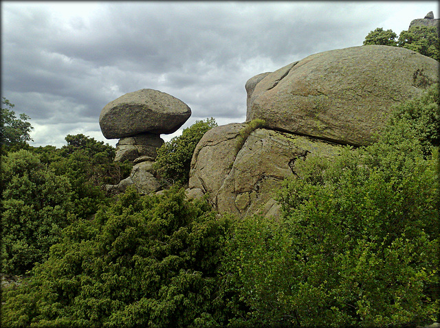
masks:
<path id="1" fill-rule="evenodd" d="M 119 194 L 124 192 L 129 185 L 135 185 L 137 192 L 140 194 L 150 194 L 158 191 L 160 184 L 155 178 L 153 163 L 153 161 L 137 163 L 131 169 L 131 174 L 128 178 L 121 180 L 118 185 L 106 185 L 107 191 Z"/>

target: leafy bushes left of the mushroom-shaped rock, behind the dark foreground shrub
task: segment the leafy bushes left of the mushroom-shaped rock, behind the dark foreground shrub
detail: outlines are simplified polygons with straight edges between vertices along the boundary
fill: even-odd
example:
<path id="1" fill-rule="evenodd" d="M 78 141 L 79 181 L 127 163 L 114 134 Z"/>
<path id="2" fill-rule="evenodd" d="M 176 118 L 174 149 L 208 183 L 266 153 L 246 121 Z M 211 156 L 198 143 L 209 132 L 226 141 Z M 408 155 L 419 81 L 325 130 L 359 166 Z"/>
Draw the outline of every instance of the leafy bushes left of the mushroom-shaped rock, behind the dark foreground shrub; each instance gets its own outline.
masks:
<path id="1" fill-rule="evenodd" d="M 65 226 L 109 202 L 102 184 L 120 179 L 122 170 L 129 174 L 129 165 L 113 162 L 111 146 L 83 134 L 66 139 L 61 149 L 28 147 L 2 156 L 4 273 L 24 274 L 47 259 Z"/>

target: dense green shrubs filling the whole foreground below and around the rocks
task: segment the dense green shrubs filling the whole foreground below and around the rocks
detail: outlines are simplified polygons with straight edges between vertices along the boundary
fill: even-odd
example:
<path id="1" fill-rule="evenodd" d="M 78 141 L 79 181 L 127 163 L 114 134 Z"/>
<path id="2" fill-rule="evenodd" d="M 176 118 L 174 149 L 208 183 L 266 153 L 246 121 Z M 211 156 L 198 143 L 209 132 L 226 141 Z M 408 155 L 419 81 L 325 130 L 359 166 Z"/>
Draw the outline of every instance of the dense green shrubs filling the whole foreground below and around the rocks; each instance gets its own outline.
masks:
<path id="1" fill-rule="evenodd" d="M 215 125 L 197 121 L 159 151 L 162 196 L 107 195 L 102 185 L 130 171 L 109 145 L 78 134 L 34 148 L 32 126 L 14 131 L 1 157 L 1 272 L 25 276 L 2 290 L 2 327 L 439 320 L 438 86 L 397 106 L 373 145 L 298 161 L 276 219 L 236 221 L 186 199 L 188 161 Z"/>

